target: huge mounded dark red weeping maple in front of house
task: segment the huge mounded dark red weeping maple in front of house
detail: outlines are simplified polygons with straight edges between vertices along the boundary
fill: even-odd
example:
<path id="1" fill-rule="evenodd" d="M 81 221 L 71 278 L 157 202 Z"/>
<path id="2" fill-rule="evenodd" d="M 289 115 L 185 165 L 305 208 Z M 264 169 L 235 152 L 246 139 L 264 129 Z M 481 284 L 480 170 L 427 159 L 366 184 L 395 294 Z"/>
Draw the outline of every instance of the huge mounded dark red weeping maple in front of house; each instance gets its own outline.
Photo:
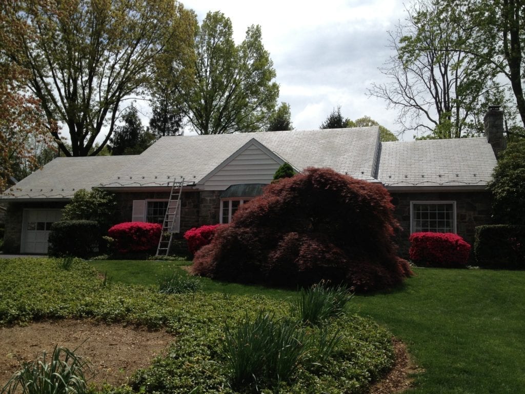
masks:
<path id="1" fill-rule="evenodd" d="M 412 274 L 396 256 L 393 211 L 381 184 L 309 168 L 243 205 L 195 254 L 193 270 L 241 283 L 390 288 Z"/>

